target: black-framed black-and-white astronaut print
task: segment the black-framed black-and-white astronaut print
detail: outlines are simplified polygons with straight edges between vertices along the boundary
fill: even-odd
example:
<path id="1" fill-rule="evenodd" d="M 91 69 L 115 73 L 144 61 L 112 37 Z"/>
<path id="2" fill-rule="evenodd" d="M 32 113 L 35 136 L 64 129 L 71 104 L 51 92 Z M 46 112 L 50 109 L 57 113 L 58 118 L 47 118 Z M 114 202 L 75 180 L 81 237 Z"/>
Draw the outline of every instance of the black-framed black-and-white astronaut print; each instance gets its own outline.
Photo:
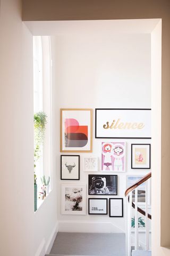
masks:
<path id="1" fill-rule="evenodd" d="M 89 195 L 117 195 L 117 175 L 89 174 Z"/>

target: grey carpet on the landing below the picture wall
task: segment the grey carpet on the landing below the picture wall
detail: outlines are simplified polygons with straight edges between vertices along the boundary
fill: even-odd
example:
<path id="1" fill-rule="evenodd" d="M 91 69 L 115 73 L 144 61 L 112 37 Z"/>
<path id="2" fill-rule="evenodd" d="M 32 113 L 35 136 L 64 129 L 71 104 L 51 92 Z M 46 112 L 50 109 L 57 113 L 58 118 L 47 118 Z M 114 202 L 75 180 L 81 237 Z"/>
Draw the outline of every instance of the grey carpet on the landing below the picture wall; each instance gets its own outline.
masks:
<path id="1" fill-rule="evenodd" d="M 125 256 L 125 234 L 58 233 L 50 254 Z"/>

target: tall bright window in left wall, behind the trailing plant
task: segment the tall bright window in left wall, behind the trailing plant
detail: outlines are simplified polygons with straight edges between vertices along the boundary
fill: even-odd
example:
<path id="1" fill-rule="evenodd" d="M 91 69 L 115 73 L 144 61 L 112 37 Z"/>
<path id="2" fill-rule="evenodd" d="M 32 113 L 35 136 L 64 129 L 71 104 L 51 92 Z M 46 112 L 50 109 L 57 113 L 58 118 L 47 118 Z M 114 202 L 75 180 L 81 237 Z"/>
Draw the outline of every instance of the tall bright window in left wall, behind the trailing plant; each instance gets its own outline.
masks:
<path id="1" fill-rule="evenodd" d="M 51 50 L 49 36 L 33 37 L 33 110 L 34 114 L 44 111 L 47 124 L 40 157 L 36 161 L 38 192 L 41 190 L 41 177 L 51 180 Z M 50 182 L 51 184 L 51 182 Z"/>

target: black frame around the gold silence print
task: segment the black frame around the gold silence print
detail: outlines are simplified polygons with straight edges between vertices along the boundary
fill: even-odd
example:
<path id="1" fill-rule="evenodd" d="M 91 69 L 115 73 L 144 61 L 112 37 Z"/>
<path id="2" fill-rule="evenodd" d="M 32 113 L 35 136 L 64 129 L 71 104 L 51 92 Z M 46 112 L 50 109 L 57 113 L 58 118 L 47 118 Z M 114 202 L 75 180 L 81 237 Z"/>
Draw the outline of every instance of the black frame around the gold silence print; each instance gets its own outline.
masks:
<path id="1" fill-rule="evenodd" d="M 97 110 L 151 110 L 151 108 L 95 108 L 95 138 L 96 139 L 151 139 L 151 137 L 97 137 Z"/>

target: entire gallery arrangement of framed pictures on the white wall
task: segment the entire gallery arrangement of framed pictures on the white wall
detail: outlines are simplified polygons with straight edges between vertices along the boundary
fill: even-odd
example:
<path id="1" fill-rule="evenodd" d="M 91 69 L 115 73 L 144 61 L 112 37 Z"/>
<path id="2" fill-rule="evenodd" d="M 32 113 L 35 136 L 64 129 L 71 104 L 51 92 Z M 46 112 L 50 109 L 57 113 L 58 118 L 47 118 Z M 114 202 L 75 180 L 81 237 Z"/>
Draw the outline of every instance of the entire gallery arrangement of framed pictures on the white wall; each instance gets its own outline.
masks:
<path id="1" fill-rule="evenodd" d="M 137 175 L 126 175 L 127 188 L 132 186 L 146 174 L 144 172 L 147 169 L 150 169 L 151 154 L 150 144 L 131 143 L 128 145 L 124 139 L 151 138 L 151 109 L 98 108 L 95 111 L 95 138 L 104 140 L 98 143 L 97 155 L 87 155 L 85 153 L 92 153 L 92 109 L 61 109 L 60 151 L 63 154 L 67 153 L 67 155 L 61 155 L 61 180 L 68 180 L 68 183 L 61 184 L 61 213 L 86 215 L 86 203 L 88 202 L 88 214 L 90 215 L 108 215 L 109 213 L 111 218 L 122 218 L 124 217 L 123 198 L 114 197 L 119 194 L 118 183 L 119 186 L 122 185 L 122 178 L 117 182 L 118 175 L 124 178 L 125 175 L 121 173 L 129 171 L 126 166 L 127 159 L 127 163 L 131 164 L 133 174 L 137 173 Z M 126 152 L 127 146 L 131 146 L 131 152 L 130 150 Z M 78 152 L 81 155 L 73 155 Z M 98 164 L 99 160 L 100 164 Z M 142 171 L 139 175 L 138 169 L 143 169 L 144 172 Z M 79 182 L 82 179 L 81 174 L 84 178 L 88 172 L 90 174 L 88 174 L 87 200 L 87 184 Z M 71 180 L 73 183 L 70 183 Z M 147 195 L 149 210 L 151 210 L 150 188 L 149 181 Z M 142 183 L 137 191 L 138 205 L 144 207 L 146 183 Z M 135 192 L 133 191 L 132 202 L 134 201 Z M 132 230 L 134 230 L 134 225 L 132 210 Z M 138 225 L 140 230 L 145 229 L 143 215 L 139 215 Z"/>

